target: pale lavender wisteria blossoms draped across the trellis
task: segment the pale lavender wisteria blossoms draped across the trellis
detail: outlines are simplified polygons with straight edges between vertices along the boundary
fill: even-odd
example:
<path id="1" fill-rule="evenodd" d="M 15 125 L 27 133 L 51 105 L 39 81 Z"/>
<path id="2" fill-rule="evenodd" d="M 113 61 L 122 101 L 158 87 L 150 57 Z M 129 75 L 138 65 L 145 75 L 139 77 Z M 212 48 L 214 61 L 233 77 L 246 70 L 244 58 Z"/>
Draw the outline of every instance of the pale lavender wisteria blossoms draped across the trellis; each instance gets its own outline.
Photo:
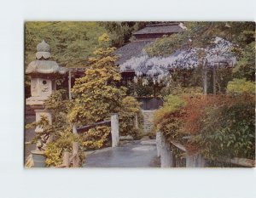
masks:
<path id="1" fill-rule="evenodd" d="M 132 57 L 119 65 L 120 72 L 134 71 L 136 76 L 165 77 L 172 69 L 193 69 L 202 64 L 207 67 L 236 65 L 236 56 L 232 52 L 233 43 L 221 37 L 212 38 L 212 45 L 206 48 L 178 49 L 166 57 L 148 57 L 147 54 Z M 205 54 L 201 58 L 201 52 Z"/>

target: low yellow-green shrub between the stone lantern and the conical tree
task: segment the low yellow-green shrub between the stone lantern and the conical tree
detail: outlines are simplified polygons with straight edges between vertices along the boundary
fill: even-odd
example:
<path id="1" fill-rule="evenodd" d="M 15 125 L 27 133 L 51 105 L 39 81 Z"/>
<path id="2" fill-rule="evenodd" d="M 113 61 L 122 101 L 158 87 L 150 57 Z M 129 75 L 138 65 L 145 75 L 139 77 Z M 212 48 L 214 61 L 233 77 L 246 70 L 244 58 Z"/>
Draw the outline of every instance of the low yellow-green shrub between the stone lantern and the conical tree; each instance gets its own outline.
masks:
<path id="1" fill-rule="evenodd" d="M 33 122 L 26 125 L 26 127 L 41 127 L 42 133 L 37 133 L 34 143 L 38 141 L 44 141 L 45 146 L 41 148 L 44 150 L 46 156 L 46 165 L 48 167 L 56 167 L 61 165 L 63 160 L 64 151 L 72 152 L 72 143 L 79 142 L 81 146 L 81 140 L 79 135 L 72 132 L 73 126 L 67 120 L 67 111 L 69 109 L 69 101 L 67 100 L 67 93 L 65 90 L 57 90 L 55 93 L 49 96 L 44 103 L 45 108 L 52 112 L 52 125 L 49 125 L 49 120 L 46 116 L 41 116 L 39 122 Z M 46 144 L 46 139 L 50 138 Z M 79 149 L 79 161 L 80 165 L 84 162 L 84 151 Z"/>

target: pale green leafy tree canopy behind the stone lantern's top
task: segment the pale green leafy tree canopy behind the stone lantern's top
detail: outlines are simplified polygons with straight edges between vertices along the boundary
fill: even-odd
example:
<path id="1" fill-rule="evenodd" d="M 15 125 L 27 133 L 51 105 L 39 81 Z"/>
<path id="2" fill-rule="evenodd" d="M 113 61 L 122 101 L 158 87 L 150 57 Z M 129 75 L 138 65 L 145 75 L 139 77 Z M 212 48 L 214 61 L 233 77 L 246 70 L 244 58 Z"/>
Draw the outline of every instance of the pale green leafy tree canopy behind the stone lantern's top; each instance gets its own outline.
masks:
<path id="1" fill-rule="evenodd" d="M 97 37 L 104 32 L 107 30 L 98 22 L 26 22 L 25 65 L 35 59 L 37 44 L 44 39 L 61 66 L 84 67 L 97 48 Z"/>

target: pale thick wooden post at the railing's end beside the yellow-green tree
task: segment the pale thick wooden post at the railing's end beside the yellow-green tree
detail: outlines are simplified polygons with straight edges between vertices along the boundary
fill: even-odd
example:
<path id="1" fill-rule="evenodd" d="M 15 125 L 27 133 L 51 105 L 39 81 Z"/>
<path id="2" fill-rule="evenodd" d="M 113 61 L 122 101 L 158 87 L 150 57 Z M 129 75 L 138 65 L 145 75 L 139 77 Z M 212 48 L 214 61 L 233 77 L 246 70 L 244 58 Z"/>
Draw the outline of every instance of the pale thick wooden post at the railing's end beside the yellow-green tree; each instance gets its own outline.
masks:
<path id="1" fill-rule="evenodd" d="M 111 114 L 111 137 L 112 147 L 119 145 L 119 115 L 117 113 Z"/>

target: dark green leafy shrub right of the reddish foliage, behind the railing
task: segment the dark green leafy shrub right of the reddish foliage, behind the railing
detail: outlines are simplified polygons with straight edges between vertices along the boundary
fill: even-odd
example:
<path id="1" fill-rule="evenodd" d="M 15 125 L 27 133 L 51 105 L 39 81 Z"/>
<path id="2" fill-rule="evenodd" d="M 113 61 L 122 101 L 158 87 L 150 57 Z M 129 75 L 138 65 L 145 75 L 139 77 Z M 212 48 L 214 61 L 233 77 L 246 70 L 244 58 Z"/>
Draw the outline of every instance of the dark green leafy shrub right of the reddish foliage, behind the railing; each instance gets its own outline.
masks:
<path id="1" fill-rule="evenodd" d="M 204 110 L 201 128 L 191 139 L 203 156 L 255 158 L 254 100 L 248 94 L 224 95 Z"/>

